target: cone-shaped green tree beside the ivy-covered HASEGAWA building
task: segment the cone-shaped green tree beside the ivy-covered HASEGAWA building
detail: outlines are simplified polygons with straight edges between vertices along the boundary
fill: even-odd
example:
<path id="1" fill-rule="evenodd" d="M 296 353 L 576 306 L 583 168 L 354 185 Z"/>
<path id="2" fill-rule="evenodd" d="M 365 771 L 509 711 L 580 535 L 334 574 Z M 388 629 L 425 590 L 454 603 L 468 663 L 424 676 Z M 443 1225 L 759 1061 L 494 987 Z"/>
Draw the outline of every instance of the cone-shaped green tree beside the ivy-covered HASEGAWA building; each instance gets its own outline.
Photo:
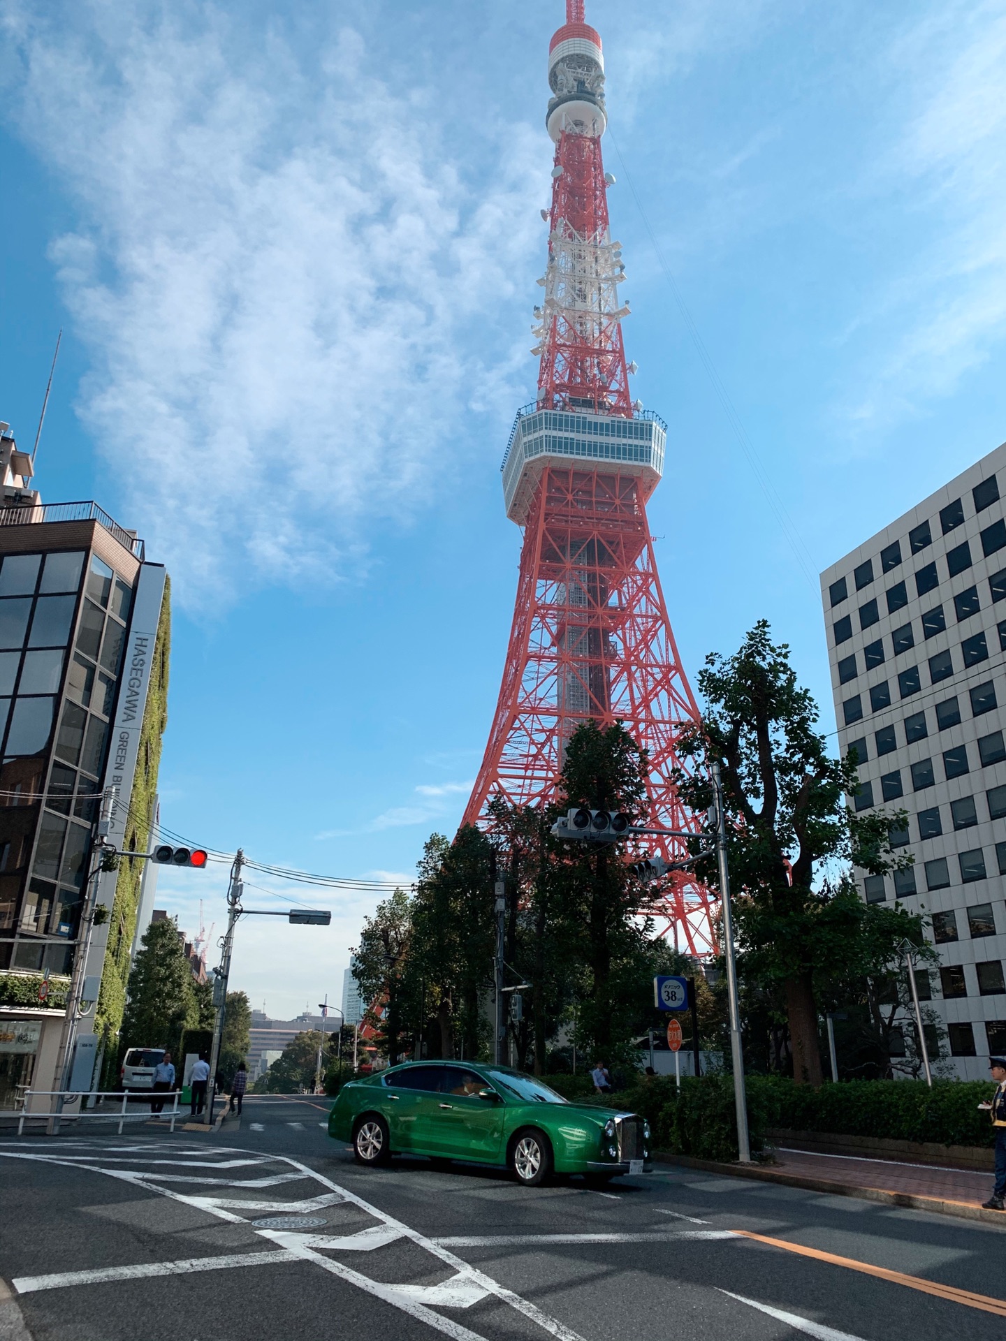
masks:
<path id="1" fill-rule="evenodd" d="M 197 1022 L 192 968 L 177 923 L 152 921 L 129 975 L 122 1047 L 168 1047 L 177 1054 L 182 1030 Z"/>

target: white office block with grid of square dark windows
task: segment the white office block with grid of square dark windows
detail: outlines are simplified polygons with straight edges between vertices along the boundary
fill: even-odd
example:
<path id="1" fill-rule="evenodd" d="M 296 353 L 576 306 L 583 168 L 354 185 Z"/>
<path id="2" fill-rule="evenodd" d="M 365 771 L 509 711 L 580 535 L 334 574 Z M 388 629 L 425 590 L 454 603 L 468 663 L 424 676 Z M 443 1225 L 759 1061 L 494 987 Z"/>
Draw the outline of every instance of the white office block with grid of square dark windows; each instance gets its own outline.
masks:
<path id="1" fill-rule="evenodd" d="M 858 811 L 908 811 L 915 864 L 856 877 L 932 920 L 919 975 L 954 1067 L 1006 1053 L 1006 444 L 821 577 L 838 742 Z"/>

